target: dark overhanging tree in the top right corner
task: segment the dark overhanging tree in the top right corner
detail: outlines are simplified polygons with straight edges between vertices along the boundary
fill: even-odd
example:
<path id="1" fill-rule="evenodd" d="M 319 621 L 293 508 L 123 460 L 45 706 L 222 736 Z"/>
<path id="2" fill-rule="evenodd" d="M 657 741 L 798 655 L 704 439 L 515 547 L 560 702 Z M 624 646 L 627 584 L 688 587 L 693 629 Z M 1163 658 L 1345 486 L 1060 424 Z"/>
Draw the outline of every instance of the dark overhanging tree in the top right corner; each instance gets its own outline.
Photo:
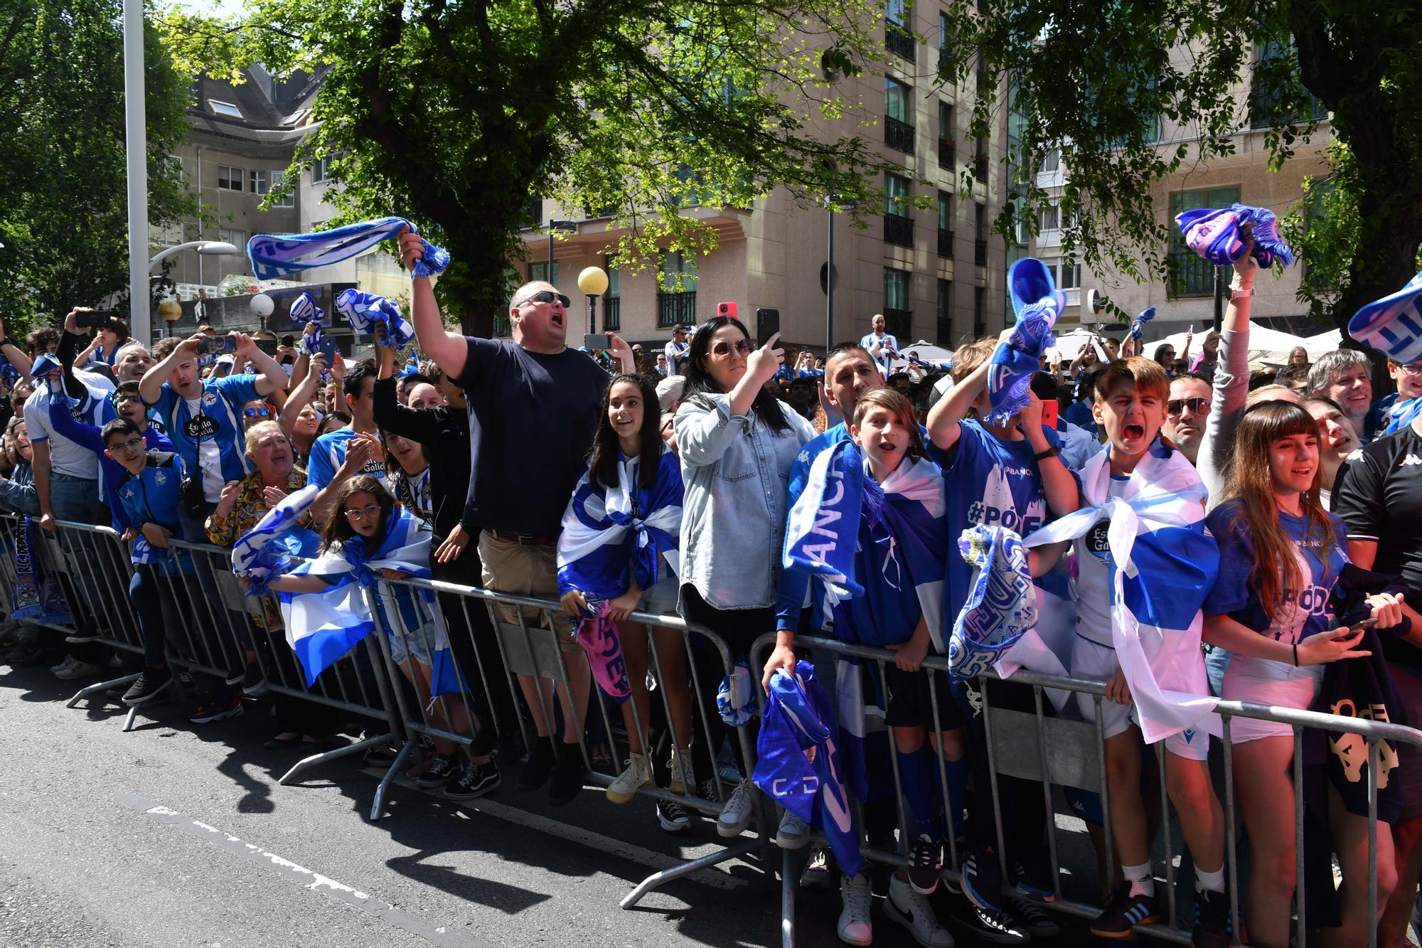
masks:
<path id="1" fill-rule="evenodd" d="M 1332 171 L 1311 182 L 1330 194 L 1290 222 L 1313 268 L 1301 297 L 1345 325 L 1416 270 L 1422 19 L 1411 3 L 954 0 L 950 19 L 958 50 L 973 54 L 960 56 L 957 75 L 981 61 L 990 77 L 1010 80 L 1028 117 L 1017 159 L 1034 168 L 1061 151 L 1068 252 L 1126 276 L 1165 273 L 1175 223 L 1153 185 L 1186 162 L 1230 154 L 1240 128 L 1266 130 L 1277 168 L 1300 142 L 1321 139 L 1330 115 Z M 1159 117 L 1197 141 L 1156 145 Z M 974 122 L 991 120 L 985 98 Z M 1047 199 L 1031 177 L 1021 191 L 1030 208 Z M 1010 204 L 998 225 L 1011 216 Z"/>

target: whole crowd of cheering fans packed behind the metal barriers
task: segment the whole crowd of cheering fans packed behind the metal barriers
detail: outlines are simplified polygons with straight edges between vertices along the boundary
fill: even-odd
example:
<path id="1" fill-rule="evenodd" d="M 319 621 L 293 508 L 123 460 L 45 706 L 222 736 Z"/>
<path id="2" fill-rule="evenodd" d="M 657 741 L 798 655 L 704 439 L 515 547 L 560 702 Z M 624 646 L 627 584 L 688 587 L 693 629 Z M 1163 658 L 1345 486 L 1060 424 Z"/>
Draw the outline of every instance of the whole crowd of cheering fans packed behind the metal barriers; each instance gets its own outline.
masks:
<path id="1" fill-rule="evenodd" d="M 418 238 L 402 238 L 401 252 L 411 266 L 421 255 Z M 276 344 L 267 332 L 232 333 L 230 352 L 210 356 L 201 346 L 210 329 L 162 339 L 149 350 L 128 339 L 117 319 L 97 332 L 81 329 L 87 310 L 75 310 L 61 330 L 37 330 L 23 344 L 0 329 L 10 393 L 0 404 L 0 508 L 44 531 L 55 531 L 58 521 L 119 531 L 132 554 L 129 595 L 145 645 L 142 675 L 124 700 L 141 705 L 171 689 L 188 702 L 195 723 L 240 715 L 243 695 L 262 692 L 245 623 L 279 629 L 282 615 L 272 605 L 250 616 L 228 615 L 216 631 L 225 655 L 233 656 L 223 680 L 195 682 L 171 670 L 165 645 L 181 628 L 176 612 L 185 602 L 215 599 L 216 576 L 210 561 L 169 547 L 169 538 L 230 547 L 309 484 L 321 490 L 301 524 L 319 532 L 324 552 L 365 549 L 398 531 L 431 531 L 435 579 L 538 596 L 559 602 L 574 619 L 616 623 L 631 695 L 621 705 L 630 757 L 619 762 L 609 800 L 626 803 L 658 781 L 678 794 L 717 799 L 705 784 L 727 767 L 728 746 L 741 779 L 717 820 L 725 837 L 749 826 L 755 793 L 755 762 L 741 759 L 738 740 L 727 740 L 729 727 L 749 729 L 754 737 L 759 723 L 727 725 L 711 715 L 702 726 L 693 695 L 715 693 L 720 656 L 688 662 L 680 633 L 647 629 L 629 616 L 680 615 L 717 633 L 732 655 L 775 632 L 769 660 L 752 673 L 762 685 L 778 670 L 792 673 L 803 658 L 796 635 L 889 648 L 887 693 L 857 666 L 842 669 L 840 680 L 860 679 L 897 759 L 897 784 L 884 773 L 869 774 L 870 790 L 860 800 L 865 826 L 855 833 L 899 848 L 894 804 L 902 793 L 907 864 L 883 880 L 869 868 L 840 873 L 833 854 L 816 846 L 801 883 L 839 887 L 839 935 L 848 944 L 870 944 L 870 897 L 880 888 L 890 920 L 920 944 L 950 945 L 929 894 L 951 838 L 963 887 L 947 911 L 980 937 L 1017 944 L 1058 931 L 1042 911 L 1054 892 L 1044 837 L 1052 814 L 1038 783 L 1000 776 L 997 793 L 990 790 L 981 707 L 1031 710 L 1031 692 L 994 682 L 983 695 L 921 666 L 941 649 L 943 625 L 951 626 L 970 594 L 971 568 L 957 555 L 966 528 L 1000 524 L 1027 535 L 1169 477 L 1172 490 L 1196 505 L 1194 521 L 1207 525 L 1197 534 L 1221 561 L 1196 616 L 1203 649 L 1173 672 L 1187 690 L 1313 707 L 1325 665 L 1369 656 L 1367 633 L 1381 642 L 1385 660 L 1375 668 L 1401 699 L 1395 710 L 1389 706 L 1394 720 L 1422 712 L 1422 626 L 1411 605 L 1422 602 L 1422 493 L 1409 484 L 1422 478 L 1422 421 L 1411 411 L 1422 396 L 1422 364 L 1389 364 L 1398 393 L 1384 400 L 1374 400 L 1371 363 L 1357 350 L 1314 364 L 1300 350 L 1277 372 L 1251 372 L 1256 266 L 1246 255 L 1234 269 L 1223 326 L 1199 353 L 1192 356 L 1189 344 L 1179 354 L 1162 346 L 1146 357 L 1135 340 L 1102 337 L 1068 364 L 1044 359 L 1028 406 L 997 421 L 988 418 L 987 376 L 998 337 L 958 347 L 950 366 L 930 364 L 900 353 L 879 315 L 862 340 L 822 354 L 785 352 L 778 337 L 757 344 L 728 316 L 678 326 L 651 356 L 614 333 L 607 333 L 606 350 L 586 353 L 565 344 L 569 300 L 550 283 L 515 292 L 513 340 L 502 342 L 448 332 L 429 280 L 417 278 L 411 322 L 424 362 L 401 369 L 395 349 L 380 337 L 373 359 L 350 364 L 338 353 L 327 363 L 304 343 Z M 307 327 L 307 336 L 317 332 Z M 786 524 L 816 477 L 816 458 L 846 441 L 863 455 L 866 497 L 900 511 L 866 514 L 856 562 L 873 572 L 899 562 L 903 554 L 894 551 L 912 544 L 917 517 L 902 512 L 912 501 L 943 524 L 927 544 L 937 585 L 920 575 L 846 599 L 826 596 L 820 576 L 782 567 Z M 1106 471 L 1099 483 L 1096 471 Z M 865 504 L 867 510 L 870 501 Z M 1122 938 L 1159 921 L 1163 897 L 1150 865 L 1160 814 L 1142 790 L 1150 786 L 1142 771 L 1155 766 L 1155 754 L 1143 753 L 1132 675 L 1112 646 L 1109 562 L 1105 525 L 1031 554 L 1032 575 L 1064 578 L 1075 609 L 1069 672 L 1106 682 L 1101 723 L 1113 853 L 1098 853 L 1105 908 L 1091 928 Z M 907 559 L 903 565 L 906 575 L 919 568 Z M 181 582 L 158 582 L 159 569 Z M 926 606 L 924 585 L 941 601 Z M 320 578 L 292 575 L 270 588 L 306 594 L 323 586 Z M 70 596 L 75 613 L 67 641 L 21 636 L 4 660 L 63 659 L 53 668 L 61 679 L 100 675 L 115 660 L 100 648 L 107 619 L 78 608 L 100 601 Z M 461 665 L 488 660 L 478 642 L 491 629 L 448 596 L 437 608 Z M 584 739 L 570 722 L 586 725 L 594 717 L 590 702 L 599 700 L 583 646 L 569 632 L 577 623 L 550 628 L 538 611 L 520 616 L 508 605 L 496 615 L 502 622 L 522 618 L 553 636 L 569 669 L 566 685 L 520 675 L 518 695 L 493 689 L 476 695 L 475 707 L 445 703 L 441 726 L 475 739 L 468 747 L 422 747 L 414 774 L 455 799 L 493 791 L 502 780 L 498 760 L 508 760 L 498 742 L 506 749 L 510 736 L 491 733 L 489 710 L 505 712 L 503 720 L 522 713 L 536 740 L 520 749 L 526 760 L 518 787 L 532 793 L 547 784 L 549 799 L 565 803 L 586 776 L 583 756 L 566 752 Z M 14 623 L 10 635 L 17 635 Z M 705 641 L 693 636 L 691 643 Z M 651 649 L 670 709 L 658 722 L 663 743 L 648 730 L 657 720 L 646 683 Z M 401 653 L 395 660 L 428 702 L 431 656 Z M 702 680 L 693 680 L 693 665 Z M 840 700 L 846 693 L 842 685 Z M 1058 713 L 1094 720 L 1096 706 L 1081 700 Z M 328 710 L 290 697 L 276 699 L 274 715 L 272 746 L 320 742 L 337 726 Z M 1166 786 L 1194 865 L 1193 944 L 1226 945 L 1241 932 L 1230 927 L 1224 824 L 1210 771 L 1220 749 L 1209 734 L 1192 732 L 1163 743 Z M 668 747 L 670 760 L 654 760 L 658 746 Z M 1237 719 L 1233 749 L 1250 847 L 1237 881 L 1249 944 L 1284 948 L 1294 890 L 1304 884 L 1295 878 L 1293 732 Z M 1392 776 L 1401 807 L 1378 824 L 1376 904 L 1368 904 L 1367 811 L 1358 816 L 1337 790 L 1322 801 L 1342 880 L 1334 917 L 1308 920 L 1321 927 L 1322 944 L 1365 944 L 1372 925 L 1379 944 L 1404 944 L 1422 860 L 1422 760 L 1411 747 L 1398 749 Z M 1101 800 L 1081 793 L 1072 804 L 1102 850 Z M 658 799 L 656 807 L 664 830 L 688 830 L 675 801 Z M 998 823 L 1005 854 L 997 851 Z M 788 848 L 812 837 L 789 810 L 766 831 Z M 1313 894 L 1308 904 L 1313 915 Z"/>

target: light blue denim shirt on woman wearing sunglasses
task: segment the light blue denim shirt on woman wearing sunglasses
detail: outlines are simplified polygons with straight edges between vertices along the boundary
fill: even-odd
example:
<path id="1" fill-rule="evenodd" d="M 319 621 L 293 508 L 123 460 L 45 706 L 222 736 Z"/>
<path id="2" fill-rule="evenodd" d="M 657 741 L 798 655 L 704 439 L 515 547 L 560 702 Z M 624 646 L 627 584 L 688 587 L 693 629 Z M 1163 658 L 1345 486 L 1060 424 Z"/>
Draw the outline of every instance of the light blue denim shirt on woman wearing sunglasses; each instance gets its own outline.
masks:
<path id="1" fill-rule="evenodd" d="M 717 609 L 775 602 L 791 465 L 815 428 L 781 404 L 789 430 L 776 436 L 754 413 L 731 414 L 731 397 L 698 396 L 677 410 L 681 457 L 681 582 Z"/>

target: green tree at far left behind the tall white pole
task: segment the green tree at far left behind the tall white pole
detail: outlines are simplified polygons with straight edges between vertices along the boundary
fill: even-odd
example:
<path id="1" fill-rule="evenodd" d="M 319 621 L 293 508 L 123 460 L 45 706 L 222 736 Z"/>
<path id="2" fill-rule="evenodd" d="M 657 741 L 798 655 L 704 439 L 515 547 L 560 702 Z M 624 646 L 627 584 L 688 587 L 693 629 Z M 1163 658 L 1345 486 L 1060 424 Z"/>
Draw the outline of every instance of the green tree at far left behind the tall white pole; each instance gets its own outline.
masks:
<path id="1" fill-rule="evenodd" d="M 168 159 L 188 80 L 145 31 L 149 222 L 196 209 Z M 0 0 L 0 299 L 11 332 L 109 293 L 127 299 L 121 0 Z"/>

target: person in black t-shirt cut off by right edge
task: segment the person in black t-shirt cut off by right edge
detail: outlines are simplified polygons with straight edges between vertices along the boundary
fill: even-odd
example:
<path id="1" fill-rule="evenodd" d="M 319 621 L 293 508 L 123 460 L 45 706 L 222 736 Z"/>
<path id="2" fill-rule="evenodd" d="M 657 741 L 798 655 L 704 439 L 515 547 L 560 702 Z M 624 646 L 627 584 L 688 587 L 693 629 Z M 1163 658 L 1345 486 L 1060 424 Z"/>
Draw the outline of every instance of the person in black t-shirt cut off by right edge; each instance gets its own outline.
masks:
<path id="1" fill-rule="evenodd" d="M 1392 680 L 1413 727 L 1422 722 L 1422 420 L 1359 448 L 1338 471 L 1332 512 L 1348 527 L 1348 559 L 1402 574 L 1406 638 L 1382 633 Z M 1398 747 L 1392 780 L 1402 780 L 1402 813 L 1392 827 L 1398 884 L 1378 924 L 1379 945 L 1405 944 L 1422 868 L 1422 752 Z"/>

